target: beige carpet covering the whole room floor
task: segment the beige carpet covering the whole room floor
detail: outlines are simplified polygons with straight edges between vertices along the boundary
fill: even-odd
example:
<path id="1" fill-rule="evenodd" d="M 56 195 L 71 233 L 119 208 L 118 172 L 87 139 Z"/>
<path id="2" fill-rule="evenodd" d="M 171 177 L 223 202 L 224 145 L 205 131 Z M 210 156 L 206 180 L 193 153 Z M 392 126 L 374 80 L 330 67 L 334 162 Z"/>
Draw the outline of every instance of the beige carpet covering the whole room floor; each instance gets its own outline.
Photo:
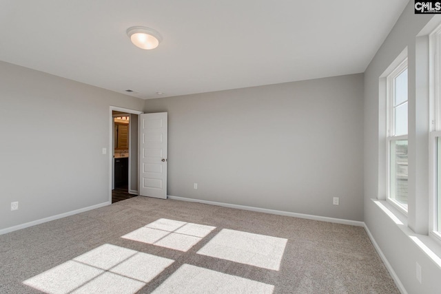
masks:
<path id="1" fill-rule="evenodd" d="M 123 200 L 0 245 L 0 293 L 399 293 L 362 227 L 178 200 Z"/>

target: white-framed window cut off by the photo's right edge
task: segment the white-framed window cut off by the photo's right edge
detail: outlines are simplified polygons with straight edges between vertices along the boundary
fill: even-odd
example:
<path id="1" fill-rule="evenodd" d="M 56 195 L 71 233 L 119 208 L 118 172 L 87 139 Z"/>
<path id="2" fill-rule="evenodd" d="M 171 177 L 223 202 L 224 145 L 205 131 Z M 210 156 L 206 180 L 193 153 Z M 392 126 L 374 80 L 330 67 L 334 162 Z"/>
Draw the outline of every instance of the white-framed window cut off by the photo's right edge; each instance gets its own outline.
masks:
<path id="1" fill-rule="evenodd" d="M 441 182 L 438 182 L 438 138 L 441 138 L 441 25 L 429 34 L 429 235 L 441 242 Z"/>

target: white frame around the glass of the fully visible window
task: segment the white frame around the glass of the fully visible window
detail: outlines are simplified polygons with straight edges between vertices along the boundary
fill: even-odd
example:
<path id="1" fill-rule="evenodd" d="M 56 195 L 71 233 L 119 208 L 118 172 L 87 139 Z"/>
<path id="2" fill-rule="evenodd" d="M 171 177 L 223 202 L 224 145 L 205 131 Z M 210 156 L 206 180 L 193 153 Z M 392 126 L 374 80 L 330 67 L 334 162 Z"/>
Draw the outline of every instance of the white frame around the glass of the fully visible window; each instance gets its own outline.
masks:
<path id="1" fill-rule="evenodd" d="M 386 96 L 386 136 L 387 136 L 387 140 L 386 140 L 386 148 L 387 148 L 387 197 L 386 200 L 387 202 L 391 203 L 394 207 L 396 207 L 399 211 L 401 211 L 402 213 L 404 213 L 407 216 L 407 206 L 401 204 L 400 202 L 398 202 L 397 200 L 391 198 L 391 144 L 394 141 L 398 141 L 398 140 L 407 140 L 407 143 L 409 144 L 409 138 L 408 138 L 408 134 L 405 135 L 400 135 L 400 136 L 395 136 L 394 134 L 394 130 L 395 130 L 395 112 L 394 112 L 394 107 L 393 107 L 393 98 L 395 97 L 395 78 L 397 76 L 399 76 L 400 74 L 402 74 L 402 72 L 404 72 L 404 70 L 407 70 L 408 66 L 407 66 L 407 56 L 405 56 L 405 58 L 400 61 L 400 63 L 398 64 L 398 66 L 387 76 L 386 78 L 386 91 L 387 91 L 387 96 Z M 408 83 L 409 84 L 409 83 Z M 408 112 L 409 112 L 409 98 L 406 101 L 408 107 Z M 397 105 L 396 105 L 397 106 Z M 409 130 L 408 130 L 409 133 Z"/>

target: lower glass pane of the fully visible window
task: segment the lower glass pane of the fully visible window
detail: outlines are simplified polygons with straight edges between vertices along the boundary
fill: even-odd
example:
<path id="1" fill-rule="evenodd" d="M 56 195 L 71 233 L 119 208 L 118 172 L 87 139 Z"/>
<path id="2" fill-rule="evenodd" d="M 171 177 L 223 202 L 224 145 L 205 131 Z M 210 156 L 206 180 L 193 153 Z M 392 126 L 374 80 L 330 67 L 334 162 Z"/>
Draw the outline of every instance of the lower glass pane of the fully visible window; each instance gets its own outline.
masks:
<path id="1" fill-rule="evenodd" d="M 407 209 L 407 140 L 391 141 L 389 197 Z"/>

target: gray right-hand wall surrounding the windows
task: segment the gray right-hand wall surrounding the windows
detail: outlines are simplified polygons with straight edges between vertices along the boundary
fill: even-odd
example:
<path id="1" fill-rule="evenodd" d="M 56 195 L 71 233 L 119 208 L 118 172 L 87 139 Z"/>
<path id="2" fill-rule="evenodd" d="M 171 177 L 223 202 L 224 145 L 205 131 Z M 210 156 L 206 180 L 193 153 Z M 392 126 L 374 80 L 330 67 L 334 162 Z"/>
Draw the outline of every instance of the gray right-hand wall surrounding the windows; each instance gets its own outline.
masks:
<path id="1" fill-rule="evenodd" d="M 408 293 L 439 293 L 441 270 L 404 233 L 371 198 L 383 198 L 386 193 L 386 142 L 384 140 L 384 119 L 379 114 L 385 112 L 379 104 L 378 82 L 380 75 L 406 47 L 409 57 L 409 227 L 424 232 L 427 228 L 427 191 L 429 170 L 427 159 L 428 120 L 422 109 L 416 105 L 426 105 L 422 96 L 416 97 L 416 36 L 428 23 L 431 16 L 416 15 L 413 1 L 402 13 L 395 27 L 384 41 L 380 50 L 365 72 L 365 223 L 380 249 L 389 260 L 393 270 Z M 418 103 L 417 103 L 418 101 Z M 424 127 L 425 125 L 425 127 Z M 418 197 L 418 201 L 416 200 Z M 417 202 L 417 204 L 416 204 Z M 426 209 L 420 209 L 426 205 Z M 420 209 L 421 211 L 419 211 Z M 418 220 L 416 220 L 418 218 Z M 427 230 L 427 229 L 426 229 Z M 416 262 L 422 266 L 422 284 L 416 280 Z"/>

